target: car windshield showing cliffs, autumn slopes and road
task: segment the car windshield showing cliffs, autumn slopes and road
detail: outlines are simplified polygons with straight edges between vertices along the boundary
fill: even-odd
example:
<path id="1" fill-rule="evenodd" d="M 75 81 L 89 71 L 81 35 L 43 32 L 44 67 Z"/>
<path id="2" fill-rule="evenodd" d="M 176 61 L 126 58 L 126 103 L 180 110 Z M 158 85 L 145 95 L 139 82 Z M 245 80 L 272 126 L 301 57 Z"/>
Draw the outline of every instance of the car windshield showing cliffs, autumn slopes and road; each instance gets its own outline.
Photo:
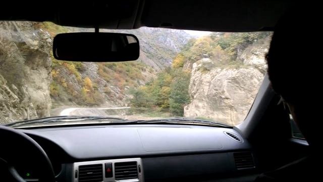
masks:
<path id="1" fill-rule="evenodd" d="M 184 117 L 233 126 L 244 120 L 262 83 L 272 36 L 100 29 L 136 35 L 140 57 L 95 63 L 53 58 L 53 37 L 67 32 L 94 29 L 0 22 L 1 124 L 73 115 L 127 120 Z"/>

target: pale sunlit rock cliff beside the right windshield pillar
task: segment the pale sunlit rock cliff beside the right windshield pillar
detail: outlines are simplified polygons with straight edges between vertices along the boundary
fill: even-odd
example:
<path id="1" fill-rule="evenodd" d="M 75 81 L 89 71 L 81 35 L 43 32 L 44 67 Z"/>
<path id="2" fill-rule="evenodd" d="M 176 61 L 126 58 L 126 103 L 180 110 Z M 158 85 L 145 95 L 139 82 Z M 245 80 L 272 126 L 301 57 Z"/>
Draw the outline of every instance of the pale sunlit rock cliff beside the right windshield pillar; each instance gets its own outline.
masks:
<path id="1" fill-rule="evenodd" d="M 214 59 L 201 59 L 192 65 L 185 117 L 208 118 L 229 125 L 246 117 L 263 80 L 270 38 L 250 45 L 237 56 L 237 65 L 218 66 Z"/>

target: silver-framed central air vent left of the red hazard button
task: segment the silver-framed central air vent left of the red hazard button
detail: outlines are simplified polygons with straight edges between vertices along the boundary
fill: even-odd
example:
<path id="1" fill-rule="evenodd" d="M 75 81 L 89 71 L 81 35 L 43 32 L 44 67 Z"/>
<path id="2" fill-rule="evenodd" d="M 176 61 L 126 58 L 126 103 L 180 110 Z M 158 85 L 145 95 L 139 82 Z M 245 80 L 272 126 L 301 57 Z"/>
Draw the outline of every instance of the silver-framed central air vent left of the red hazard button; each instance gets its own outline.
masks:
<path id="1" fill-rule="evenodd" d="M 103 181 L 102 164 L 80 165 L 79 181 L 87 181 L 87 182 Z"/>

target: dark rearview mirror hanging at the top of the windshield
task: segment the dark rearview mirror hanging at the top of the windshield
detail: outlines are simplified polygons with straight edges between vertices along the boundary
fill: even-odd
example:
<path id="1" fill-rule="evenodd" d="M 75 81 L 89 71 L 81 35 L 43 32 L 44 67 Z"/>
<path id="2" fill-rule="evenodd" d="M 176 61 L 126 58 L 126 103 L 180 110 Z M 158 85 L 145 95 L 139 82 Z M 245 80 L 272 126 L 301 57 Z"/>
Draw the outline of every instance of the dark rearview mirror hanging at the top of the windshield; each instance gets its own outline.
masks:
<path id="1" fill-rule="evenodd" d="M 133 61 L 139 58 L 139 40 L 125 33 L 62 33 L 53 40 L 53 56 L 64 61 Z"/>

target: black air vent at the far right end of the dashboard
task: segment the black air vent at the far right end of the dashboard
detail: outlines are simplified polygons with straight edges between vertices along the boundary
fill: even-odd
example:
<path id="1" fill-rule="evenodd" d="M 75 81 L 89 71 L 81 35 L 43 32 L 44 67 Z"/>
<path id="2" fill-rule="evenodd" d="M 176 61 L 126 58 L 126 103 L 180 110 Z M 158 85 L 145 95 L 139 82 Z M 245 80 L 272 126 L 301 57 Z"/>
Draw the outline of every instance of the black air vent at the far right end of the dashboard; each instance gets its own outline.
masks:
<path id="1" fill-rule="evenodd" d="M 237 169 L 247 169 L 255 167 L 251 152 L 237 152 L 234 153 L 233 156 Z"/>

